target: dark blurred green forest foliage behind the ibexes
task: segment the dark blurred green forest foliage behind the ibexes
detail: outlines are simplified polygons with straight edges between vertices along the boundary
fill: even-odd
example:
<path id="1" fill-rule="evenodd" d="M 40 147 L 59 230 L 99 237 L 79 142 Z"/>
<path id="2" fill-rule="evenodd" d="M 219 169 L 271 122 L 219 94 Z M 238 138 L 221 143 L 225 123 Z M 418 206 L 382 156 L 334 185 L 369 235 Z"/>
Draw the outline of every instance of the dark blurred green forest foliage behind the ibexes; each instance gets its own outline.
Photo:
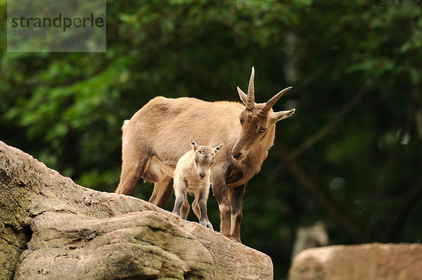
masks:
<path id="1" fill-rule="evenodd" d="M 330 244 L 421 242 L 421 9 L 110 0 L 106 53 L 7 53 L 1 0 L 0 140 L 113 192 L 123 120 L 158 95 L 238 101 L 253 65 L 257 102 L 293 86 L 274 109 L 297 109 L 244 198 L 243 243 L 271 256 L 275 278 L 286 277 L 295 229 L 316 220 Z M 218 229 L 213 196 L 208 205 Z"/>

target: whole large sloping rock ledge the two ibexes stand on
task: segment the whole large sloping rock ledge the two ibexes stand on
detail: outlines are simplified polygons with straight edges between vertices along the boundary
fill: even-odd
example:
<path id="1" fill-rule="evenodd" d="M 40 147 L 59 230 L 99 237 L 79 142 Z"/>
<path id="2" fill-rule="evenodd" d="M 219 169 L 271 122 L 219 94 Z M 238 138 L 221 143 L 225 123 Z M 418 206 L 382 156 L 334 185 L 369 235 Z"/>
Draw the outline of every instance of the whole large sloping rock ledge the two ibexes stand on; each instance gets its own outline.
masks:
<path id="1" fill-rule="evenodd" d="M 271 259 L 0 141 L 0 279 L 272 279 Z"/>

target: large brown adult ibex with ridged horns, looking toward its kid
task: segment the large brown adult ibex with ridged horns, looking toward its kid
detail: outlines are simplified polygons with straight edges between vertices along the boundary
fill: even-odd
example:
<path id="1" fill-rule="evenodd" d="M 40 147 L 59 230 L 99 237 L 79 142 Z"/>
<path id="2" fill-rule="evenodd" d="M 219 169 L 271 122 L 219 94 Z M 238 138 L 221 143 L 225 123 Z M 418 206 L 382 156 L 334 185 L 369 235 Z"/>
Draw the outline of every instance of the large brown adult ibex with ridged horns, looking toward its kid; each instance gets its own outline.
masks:
<path id="1" fill-rule="evenodd" d="M 151 99 L 124 125 L 122 173 L 116 192 L 131 193 L 143 177 L 155 182 L 149 201 L 162 207 L 172 196 L 177 160 L 191 148 L 189 136 L 206 146 L 224 143 L 225 148 L 211 167 L 212 191 L 219 204 L 221 233 L 241 242 L 245 185 L 267 158 L 276 122 L 295 113 L 295 109 L 280 112 L 271 109 L 291 87 L 267 103 L 255 103 L 254 77 L 252 68 L 248 94 L 237 88 L 245 106 L 186 97 Z"/>

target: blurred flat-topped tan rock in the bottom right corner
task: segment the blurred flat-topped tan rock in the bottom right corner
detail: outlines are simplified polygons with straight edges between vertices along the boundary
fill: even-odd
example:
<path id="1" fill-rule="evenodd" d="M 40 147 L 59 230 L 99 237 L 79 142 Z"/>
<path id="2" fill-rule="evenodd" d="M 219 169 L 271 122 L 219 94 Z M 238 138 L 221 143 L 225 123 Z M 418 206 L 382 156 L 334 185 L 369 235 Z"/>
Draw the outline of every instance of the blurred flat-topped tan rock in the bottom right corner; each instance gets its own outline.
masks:
<path id="1" fill-rule="evenodd" d="M 422 244 L 369 243 L 302 251 L 290 267 L 290 280 L 416 280 L 422 275 Z"/>

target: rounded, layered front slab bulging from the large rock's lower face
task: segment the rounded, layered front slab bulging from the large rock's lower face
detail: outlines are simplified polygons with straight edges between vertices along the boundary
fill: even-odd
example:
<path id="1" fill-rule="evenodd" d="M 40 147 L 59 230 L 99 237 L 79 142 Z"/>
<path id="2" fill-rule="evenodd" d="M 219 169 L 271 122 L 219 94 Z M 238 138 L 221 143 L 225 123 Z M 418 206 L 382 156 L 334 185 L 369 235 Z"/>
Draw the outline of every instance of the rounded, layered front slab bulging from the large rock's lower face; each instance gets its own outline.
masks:
<path id="1" fill-rule="evenodd" d="M 214 277 L 208 250 L 157 212 L 108 219 L 46 212 L 31 227 L 34 234 L 15 279 Z"/>

